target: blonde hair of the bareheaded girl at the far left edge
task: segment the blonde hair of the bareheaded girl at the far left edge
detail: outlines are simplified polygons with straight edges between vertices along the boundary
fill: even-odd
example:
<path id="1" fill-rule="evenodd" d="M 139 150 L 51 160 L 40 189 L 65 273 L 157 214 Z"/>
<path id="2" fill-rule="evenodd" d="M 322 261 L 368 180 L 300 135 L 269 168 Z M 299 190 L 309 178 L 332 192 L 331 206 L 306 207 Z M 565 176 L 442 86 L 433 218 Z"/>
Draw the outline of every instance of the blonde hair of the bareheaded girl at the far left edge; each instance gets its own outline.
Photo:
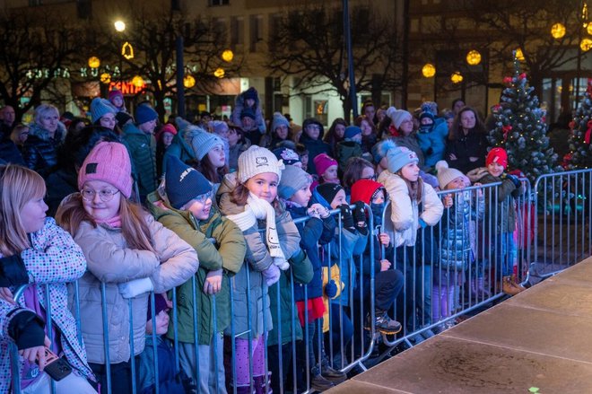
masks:
<path id="1" fill-rule="evenodd" d="M 43 198 L 45 181 L 28 168 L 0 165 L 0 252 L 12 256 L 30 248 L 21 211 L 30 200 Z"/>

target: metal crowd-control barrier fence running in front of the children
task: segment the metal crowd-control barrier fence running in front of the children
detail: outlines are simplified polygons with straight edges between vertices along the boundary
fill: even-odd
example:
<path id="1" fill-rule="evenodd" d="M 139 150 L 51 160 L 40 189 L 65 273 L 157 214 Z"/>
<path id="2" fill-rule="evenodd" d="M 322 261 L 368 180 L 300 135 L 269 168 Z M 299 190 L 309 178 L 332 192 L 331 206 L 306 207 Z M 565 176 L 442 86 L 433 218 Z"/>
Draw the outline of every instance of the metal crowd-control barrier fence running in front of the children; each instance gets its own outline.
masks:
<path id="1" fill-rule="evenodd" d="M 304 270 L 292 266 L 283 271 L 277 285 L 267 288 L 261 273 L 245 263 L 236 276 L 223 277 L 227 293 L 206 295 L 199 271 L 168 293 L 170 324 L 164 337 L 171 345 L 163 345 L 154 319 L 158 315 L 155 294 L 126 301 L 125 311 L 117 315 L 126 320 L 122 324 L 128 331 L 131 355 L 127 361 L 112 352 L 120 350 L 115 344 L 121 340 L 109 329 L 113 319 L 109 314 L 114 313 L 109 309 L 113 296 L 109 291 L 118 292 L 113 288 L 117 285 L 97 281 L 93 291 L 100 292 L 100 314 L 88 321 L 81 311 L 81 300 L 88 294 L 81 292 L 89 289 L 73 283 L 70 309 L 77 337 L 82 342 L 92 332 L 102 340 L 101 355 L 89 360 L 93 370 L 99 368 L 103 375 L 101 392 L 116 392 L 113 385 L 121 379 L 122 363 L 132 392 L 145 388 L 146 368 L 152 370 L 148 379 L 158 382 L 160 346 L 168 346 L 176 370 L 193 379 L 197 392 L 318 390 L 316 377 L 329 367 L 337 371 L 332 378 L 338 381 L 338 372 L 363 371 L 370 358 L 379 360 L 402 343 L 414 346 L 452 326 L 458 317 L 491 306 L 504 295 L 505 278 L 532 282 L 590 255 L 592 171 L 543 176 L 534 188 L 527 179 L 520 180 L 521 188 L 512 198 L 504 195 L 501 183 L 438 192 L 445 206 L 440 223 L 420 228 L 416 241 L 407 245 L 393 245 L 390 202 L 377 223 L 370 206 L 365 206 L 368 235 L 344 229 L 340 211 L 331 211 L 335 234 L 318 245 L 318 257 L 323 288 L 335 280 L 338 291 L 329 299 L 323 290 L 326 313 L 322 319 L 311 312 L 310 302 L 317 297 L 311 298 L 303 285 L 309 280 L 302 277 Z M 419 209 L 421 215 L 421 205 Z M 309 220 L 294 223 L 305 226 Z M 389 247 L 380 244 L 383 232 L 390 235 Z M 381 260 L 392 266 L 383 269 Z M 376 313 L 382 313 L 385 272 L 400 279 L 402 286 L 387 306 L 388 316 L 403 327 L 396 335 L 380 332 L 374 325 Z M 227 305 L 223 310 L 217 307 L 220 300 L 228 301 L 222 302 Z M 144 327 L 144 321 L 137 321 L 134 314 L 136 302 L 150 302 L 153 318 L 145 327 L 152 329 L 145 334 L 144 346 L 139 347 L 134 339 L 137 344 L 137 329 Z M 49 323 L 49 300 L 47 311 Z M 11 355 L 12 371 L 18 371 L 14 346 Z M 179 379 L 179 384 L 187 382 Z M 19 374 L 13 373 L 13 392 L 20 392 L 20 384 Z M 153 391 L 163 392 L 158 384 Z"/>

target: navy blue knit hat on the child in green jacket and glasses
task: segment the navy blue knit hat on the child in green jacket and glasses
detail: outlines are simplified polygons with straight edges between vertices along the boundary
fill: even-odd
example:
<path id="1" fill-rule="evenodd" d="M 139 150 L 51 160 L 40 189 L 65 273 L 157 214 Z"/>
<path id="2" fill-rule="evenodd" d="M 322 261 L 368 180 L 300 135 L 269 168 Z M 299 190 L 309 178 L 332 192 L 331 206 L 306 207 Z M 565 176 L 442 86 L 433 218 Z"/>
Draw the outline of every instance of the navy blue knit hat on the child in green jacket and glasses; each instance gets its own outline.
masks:
<path id="1" fill-rule="evenodd" d="M 180 209 L 191 199 L 212 191 L 212 184 L 205 176 L 181 162 L 178 157 L 168 156 L 166 168 L 164 188 L 173 208 Z"/>

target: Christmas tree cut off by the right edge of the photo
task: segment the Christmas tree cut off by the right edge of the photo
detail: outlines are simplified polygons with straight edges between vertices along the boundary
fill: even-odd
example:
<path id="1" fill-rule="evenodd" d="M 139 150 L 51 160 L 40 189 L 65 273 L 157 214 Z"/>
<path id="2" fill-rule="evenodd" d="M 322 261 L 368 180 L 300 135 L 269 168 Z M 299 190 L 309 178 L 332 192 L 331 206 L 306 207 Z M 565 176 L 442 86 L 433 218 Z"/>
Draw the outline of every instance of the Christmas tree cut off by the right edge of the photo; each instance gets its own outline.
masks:
<path id="1" fill-rule="evenodd" d="M 568 140 L 570 153 L 563 157 L 563 167 L 566 170 L 592 168 L 592 81 L 588 80 L 588 89 L 576 116 L 570 122 L 570 138 Z"/>

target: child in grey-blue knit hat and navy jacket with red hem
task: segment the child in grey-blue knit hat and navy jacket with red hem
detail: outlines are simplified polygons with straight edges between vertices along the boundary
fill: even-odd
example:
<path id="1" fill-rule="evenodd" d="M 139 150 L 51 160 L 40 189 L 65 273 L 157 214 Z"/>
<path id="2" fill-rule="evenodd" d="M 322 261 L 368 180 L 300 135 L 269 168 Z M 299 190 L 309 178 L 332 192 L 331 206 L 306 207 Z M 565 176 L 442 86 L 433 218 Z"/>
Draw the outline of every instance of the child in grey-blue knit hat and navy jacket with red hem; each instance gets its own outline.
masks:
<path id="1" fill-rule="evenodd" d="M 309 217 L 306 223 L 299 223 L 297 227 L 300 232 L 300 247 L 309 256 L 314 273 L 308 285 L 294 285 L 294 300 L 300 326 L 305 330 L 303 334 L 305 342 L 299 343 L 299 346 L 296 347 L 300 378 L 298 384 L 299 387 L 306 387 L 306 372 L 304 371 L 308 359 L 310 387 L 322 391 L 334 386 L 333 382 L 323 375 L 335 375 L 339 372 L 332 371 L 329 366 L 323 346 L 322 330 L 319 331 L 323 325 L 323 315 L 326 309 L 322 297 L 324 289 L 318 248 L 333 240 L 336 223 L 325 206 L 318 203 L 309 206 L 312 195 L 310 192 L 312 178 L 306 171 L 289 165 L 286 166 L 282 175 L 279 195 L 284 201 L 286 209 L 294 219 Z M 331 291 L 336 286 L 335 281 L 330 280 L 329 283 L 331 285 L 325 288 L 326 295 L 335 296 L 335 293 Z M 319 333 L 321 333 L 320 341 Z M 320 365 L 317 363 L 319 357 Z"/>

